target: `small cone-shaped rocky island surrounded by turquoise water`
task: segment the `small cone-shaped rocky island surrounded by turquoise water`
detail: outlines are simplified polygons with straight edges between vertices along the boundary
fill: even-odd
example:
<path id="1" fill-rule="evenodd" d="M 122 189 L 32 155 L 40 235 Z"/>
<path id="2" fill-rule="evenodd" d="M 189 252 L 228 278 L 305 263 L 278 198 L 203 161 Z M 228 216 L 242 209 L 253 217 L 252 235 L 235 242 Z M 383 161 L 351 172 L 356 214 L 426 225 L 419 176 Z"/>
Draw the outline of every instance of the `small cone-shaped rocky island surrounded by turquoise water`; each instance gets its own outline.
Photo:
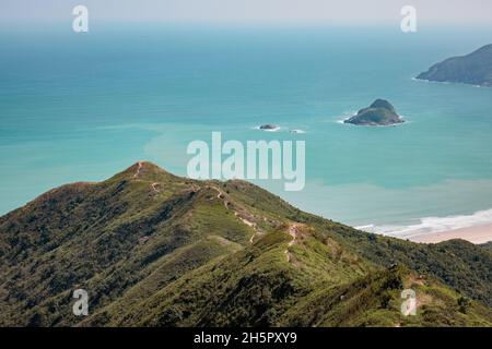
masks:
<path id="1" fill-rule="evenodd" d="M 379 125 L 386 127 L 405 122 L 396 112 L 395 107 L 385 99 L 376 99 L 368 108 L 359 110 L 359 112 L 344 120 L 344 123 L 358 125 Z"/>

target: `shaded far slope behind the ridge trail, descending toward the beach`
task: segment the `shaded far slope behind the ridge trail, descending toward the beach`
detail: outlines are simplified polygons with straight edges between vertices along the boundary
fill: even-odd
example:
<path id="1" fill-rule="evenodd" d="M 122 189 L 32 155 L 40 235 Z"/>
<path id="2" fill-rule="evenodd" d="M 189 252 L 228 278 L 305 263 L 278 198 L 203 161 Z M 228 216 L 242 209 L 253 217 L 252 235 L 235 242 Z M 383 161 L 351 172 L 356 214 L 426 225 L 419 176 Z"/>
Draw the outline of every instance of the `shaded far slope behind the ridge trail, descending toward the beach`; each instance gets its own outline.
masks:
<path id="1" fill-rule="evenodd" d="M 278 213 L 293 221 L 306 222 L 315 228 L 318 239 L 330 237 L 344 250 L 375 265 L 399 263 L 420 273 L 437 278 L 443 284 L 459 289 L 467 296 L 492 306 L 492 254 L 491 251 L 464 240 L 450 240 L 437 244 L 424 244 L 388 238 L 355 230 L 351 227 L 303 213 L 280 198 L 248 183 L 232 182 L 241 200 L 254 203 L 260 210 Z"/>

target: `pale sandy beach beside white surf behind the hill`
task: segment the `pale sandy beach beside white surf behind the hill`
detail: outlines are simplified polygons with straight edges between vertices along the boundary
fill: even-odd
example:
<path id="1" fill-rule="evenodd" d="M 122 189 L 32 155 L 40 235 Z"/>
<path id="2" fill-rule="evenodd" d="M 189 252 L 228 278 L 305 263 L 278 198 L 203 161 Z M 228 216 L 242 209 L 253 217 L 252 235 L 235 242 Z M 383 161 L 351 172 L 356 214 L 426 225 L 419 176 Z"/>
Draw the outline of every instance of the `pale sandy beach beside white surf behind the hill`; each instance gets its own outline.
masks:
<path id="1" fill-rule="evenodd" d="M 475 244 L 492 241 L 492 222 L 453 230 L 423 233 L 408 238 L 408 240 L 412 242 L 420 243 L 438 243 L 452 239 L 461 239 Z"/>

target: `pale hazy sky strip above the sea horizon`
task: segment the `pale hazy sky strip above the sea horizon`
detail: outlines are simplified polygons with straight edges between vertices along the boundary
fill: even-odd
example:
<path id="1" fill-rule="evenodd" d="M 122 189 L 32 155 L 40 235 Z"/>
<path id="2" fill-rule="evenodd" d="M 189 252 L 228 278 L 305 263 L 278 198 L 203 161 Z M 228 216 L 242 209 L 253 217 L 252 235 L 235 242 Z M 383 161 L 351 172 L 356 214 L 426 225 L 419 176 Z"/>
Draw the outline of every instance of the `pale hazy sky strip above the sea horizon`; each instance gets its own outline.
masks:
<path id="1" fill-rule="evenodd" d="M 0 0 L 0 21 L 70 21 L 77 4 L 97 20 L 325 24 L 398 23 L 410 4 L 421 24 L 492 23 L 492 0 Z"/>

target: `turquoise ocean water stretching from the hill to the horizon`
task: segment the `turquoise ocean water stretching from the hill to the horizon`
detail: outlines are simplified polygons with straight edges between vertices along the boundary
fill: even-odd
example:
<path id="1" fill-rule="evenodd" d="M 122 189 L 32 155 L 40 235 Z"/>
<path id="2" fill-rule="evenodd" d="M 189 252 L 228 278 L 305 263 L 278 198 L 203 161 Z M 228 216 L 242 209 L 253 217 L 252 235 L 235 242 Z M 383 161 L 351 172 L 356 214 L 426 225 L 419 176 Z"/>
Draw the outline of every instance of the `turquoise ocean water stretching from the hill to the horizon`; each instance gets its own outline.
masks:
<path id="1" fill-rule="evenodd" d="M 492 27 L 2 26 L 0 214 L 140 159 L 186 174 L 187 144 L 221 131 L 304 140 L 303 191 L 258 184 L 327 218 L 406 236 L 492 221 L 492 88 L 412 79 L 490 43 Z M 376 98 L 408 122 L 339 122 Z"/>

